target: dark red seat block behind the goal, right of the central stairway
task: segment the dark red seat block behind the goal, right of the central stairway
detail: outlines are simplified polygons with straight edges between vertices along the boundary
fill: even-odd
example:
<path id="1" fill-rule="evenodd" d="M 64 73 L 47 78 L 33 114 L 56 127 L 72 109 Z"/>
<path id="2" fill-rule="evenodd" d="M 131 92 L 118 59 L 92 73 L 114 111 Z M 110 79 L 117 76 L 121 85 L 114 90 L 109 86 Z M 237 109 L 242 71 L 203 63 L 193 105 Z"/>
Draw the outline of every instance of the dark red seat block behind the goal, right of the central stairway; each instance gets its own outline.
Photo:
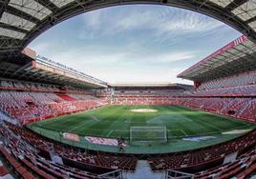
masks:
<path id="1" fill-rule="evenodd" d="M 223 161 L 224 157 L 230 153 L 240 153 L 244 149 L 255 148 L 255 145 L 256 130 L 219 145 L 150 157 L 148 161 L 153 170 L 199 168 L 208 163 Z"/>

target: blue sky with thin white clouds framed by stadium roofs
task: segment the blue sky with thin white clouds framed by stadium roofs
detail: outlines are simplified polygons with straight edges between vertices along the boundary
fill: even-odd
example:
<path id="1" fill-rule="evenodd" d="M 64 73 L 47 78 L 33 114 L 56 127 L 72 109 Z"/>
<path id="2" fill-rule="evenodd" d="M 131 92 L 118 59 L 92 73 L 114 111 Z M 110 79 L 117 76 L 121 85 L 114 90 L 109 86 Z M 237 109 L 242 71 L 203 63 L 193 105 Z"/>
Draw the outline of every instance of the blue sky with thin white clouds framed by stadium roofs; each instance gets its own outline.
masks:
<path id="1" fill-rule="evenodd" d="M 77 15 L 29 48 L 108 83 L 192 84 L 177 75 L 241 35 L 198 12 L 126 5 Z"/>

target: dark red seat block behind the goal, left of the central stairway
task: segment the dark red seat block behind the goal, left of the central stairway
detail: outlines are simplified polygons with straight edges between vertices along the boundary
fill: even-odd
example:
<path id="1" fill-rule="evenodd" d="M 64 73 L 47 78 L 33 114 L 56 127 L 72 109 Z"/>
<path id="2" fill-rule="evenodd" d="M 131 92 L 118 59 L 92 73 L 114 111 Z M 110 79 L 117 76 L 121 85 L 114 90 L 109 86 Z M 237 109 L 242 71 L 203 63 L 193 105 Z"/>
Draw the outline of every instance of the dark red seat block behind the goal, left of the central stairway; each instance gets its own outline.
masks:
<path id="1" fill-rule="evenodd" d="M 108 155 L 106 153 L 97 153 L 96 155 L 81 152 L 80 149 L 67 148 L 63 145 L 47 141 L 28 129 L 19 128 L 10 123 L 7 124 L 14 133 L 19 134 L 24 140 L 32 144 L 32 146 L 42 150 L 49 150 L 53 147 L 54 152 L 61 156 L 63 160 L 66 159 L 71 162 L 79 162 L 92 167 L 100 167 L 102 169 L 135 170 L 137 167 L 138 160 L 133 156 L 123 157 L 114 154 Z"/>

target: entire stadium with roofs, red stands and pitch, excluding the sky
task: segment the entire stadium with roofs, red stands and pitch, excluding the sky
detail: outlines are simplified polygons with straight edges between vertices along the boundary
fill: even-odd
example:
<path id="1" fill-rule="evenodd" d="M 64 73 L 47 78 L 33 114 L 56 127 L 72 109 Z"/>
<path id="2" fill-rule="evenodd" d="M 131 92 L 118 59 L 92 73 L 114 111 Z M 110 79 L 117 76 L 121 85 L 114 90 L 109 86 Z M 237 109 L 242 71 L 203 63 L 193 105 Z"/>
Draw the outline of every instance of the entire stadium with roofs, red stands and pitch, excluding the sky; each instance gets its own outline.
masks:
<path id="1" fill-rule="evenodd" d="M 119 5 L 193 10 L 243 33 L 177 74 L 110 84 L 27 46 L 75 15 Z M 253 0 L 0 1 L 0 178 L 254 178 Z"/>

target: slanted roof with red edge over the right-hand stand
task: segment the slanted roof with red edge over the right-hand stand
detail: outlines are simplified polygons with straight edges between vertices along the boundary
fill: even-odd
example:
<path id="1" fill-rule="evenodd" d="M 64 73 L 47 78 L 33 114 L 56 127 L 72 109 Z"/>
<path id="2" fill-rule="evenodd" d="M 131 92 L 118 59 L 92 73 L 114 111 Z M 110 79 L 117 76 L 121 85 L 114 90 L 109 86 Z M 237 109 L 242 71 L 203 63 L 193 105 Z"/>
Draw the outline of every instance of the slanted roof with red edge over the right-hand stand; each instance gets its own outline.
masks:
<path id="1" fill-rule="evenodd" d="M 256 44 L 243 35 L 184 70 L 178 77 L 203 82 L 248 70 L 256 70 Z"/>

